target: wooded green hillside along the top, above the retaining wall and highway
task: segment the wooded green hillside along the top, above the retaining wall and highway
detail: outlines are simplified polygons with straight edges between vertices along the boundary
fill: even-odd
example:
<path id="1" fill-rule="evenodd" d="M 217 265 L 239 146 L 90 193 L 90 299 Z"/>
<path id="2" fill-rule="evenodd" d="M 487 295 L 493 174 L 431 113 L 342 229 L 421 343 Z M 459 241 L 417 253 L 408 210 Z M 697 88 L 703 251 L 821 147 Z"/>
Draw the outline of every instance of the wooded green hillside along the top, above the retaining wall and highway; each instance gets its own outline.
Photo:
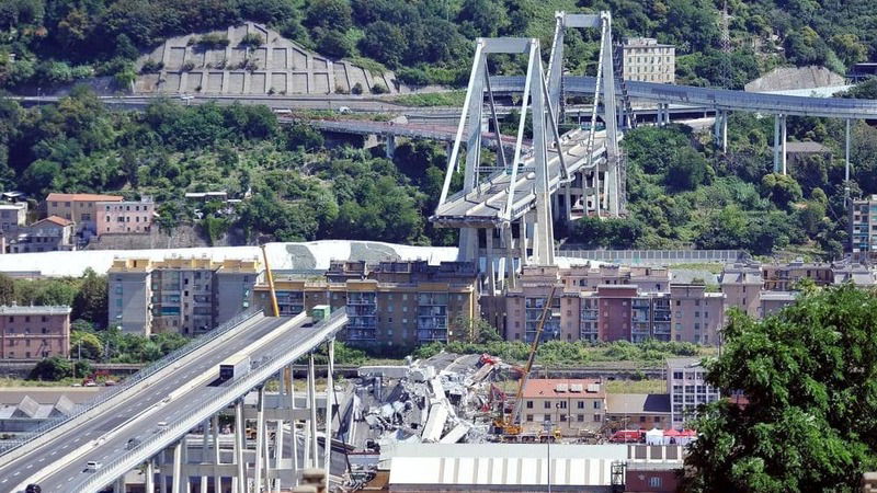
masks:
<path id="1" fill-rule="evenodd" d="M 164 39 L 266 24 L 307 49 L 409 84 L 459 84 L 478 36 L 536 36 L 550 45 L 555 10 L 614 14 L 615 33 L 679 48 L 679 80 L 739 88 L 777 65 L 824 65 L 843 73 L 874 59 L 870 0 L 729 2 L 733 50 L 720 48 L 716 0 L 13 0 L 0 9 L 0 85 L 22 89 L 113 76 L 136 78 L 134 60 Z M 595 33 L 568 36 L 569 69 L 593 70 Z M 547 54 L 546 54 L 547 56 Z M 505 61 L 494 67 L 503 69 Z"/>

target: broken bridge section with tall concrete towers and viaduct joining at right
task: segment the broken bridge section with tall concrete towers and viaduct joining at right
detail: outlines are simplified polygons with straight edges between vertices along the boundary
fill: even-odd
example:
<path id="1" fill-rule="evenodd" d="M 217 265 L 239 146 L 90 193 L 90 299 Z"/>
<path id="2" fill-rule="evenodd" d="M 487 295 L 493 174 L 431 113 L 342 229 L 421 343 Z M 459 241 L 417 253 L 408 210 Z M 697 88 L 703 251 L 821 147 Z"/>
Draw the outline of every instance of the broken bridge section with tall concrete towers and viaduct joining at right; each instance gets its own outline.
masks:
<path id="1" fill-rule="evenodd" d="M 563 73 L 563 38 L 568 28 L 601 31 L 596 77 Z M 819 116 L 846 122 L 846 174 L 850 180 L 852 119 L 877 119 L 877 101 L 748 93 L 722 89 L 670 85 L 622 80 L 615 69 L 612 16 L 557 12 L 547 70 L 543 69 L 537 39 L 479 38 L 460 115 L 448 158 L 444 187 L 430 220 L 460 229 L 459 256 L 485 266 L 489 291 L 512 286 L 520 266 L 529 262 L 554 264 L 553 222 L 573 215 L 614 217 L 624 214 L 625 163 L 618 148 L 622 129 L 636 124 L 631 100 L 658 105 L 657 124 L 670 122 L 671 106 L 713 112 L 717 146 L 727 150 L 731 111 L 775 116 L 774 170 L 787 173 L 786 118 Z M 491 54 L 528 57 L 525 76 L 492 76 Z M 617 89 L 617 91 L 616 91 Z M 513 159 L 498 152 L 494 163 L 482 162 L 482 135 L 475 122 L 494 122 L 497 95 L 521 98 L 521 121 Z M 566 96 L 594 95 L 589 131 L 558 134 Z M 488 108 L 487 111 L 485 108 Z M 532 114 L 533 146 L 522 151 L 527 112 Z M 605 130 L 596 133 L 597 117 Z M 494 139 L 505 142 L 499 130 Z M 500 146 L 502 147 L 502 146 Z M 465 150 L 463 150 L 465 148 Z M 451 193 L 453 175 L 465 156 L 464 185 Z M 848 188 L 847 188 L 848 190 Z"/>

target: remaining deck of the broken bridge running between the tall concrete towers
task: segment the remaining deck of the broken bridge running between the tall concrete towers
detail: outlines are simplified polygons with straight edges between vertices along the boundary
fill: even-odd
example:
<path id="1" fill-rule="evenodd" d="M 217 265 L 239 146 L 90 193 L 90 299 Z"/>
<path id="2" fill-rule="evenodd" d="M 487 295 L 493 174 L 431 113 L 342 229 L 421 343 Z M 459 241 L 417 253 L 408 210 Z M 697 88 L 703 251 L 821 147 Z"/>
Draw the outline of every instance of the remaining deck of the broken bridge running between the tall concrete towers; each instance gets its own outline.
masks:
<path id="1" fill-rule="evenodd" d="M 604 139 L 605 133 L 595 134 L 593 165 L 599 165 L 604 161 Z M 581 129 L 572 130 L 561 137 L 561 141 L 565 142 L 562 146 L 563 159 L 570 175 L 580 171 L 588 163 L 586 140 L 588 133 Z M 519 170 L 516 176 L 511 218 L 504 217 L 504 209 L 512 176 L 504 170 L 500 170 L 468 194 L 458 192 L 449 196 L 430 220 L 437 226 L 447 228 L 497 228 L 520 218 L 535 206 L 536 200 L 533 192 L 536 174 L 532 171 L 534 158 L 527 156 L 523 161 L 523 170 Z M 550 150 L 548 153 L 548 187 L 554 193 L 562 183 L 560 158 L 557 150 Z"/>

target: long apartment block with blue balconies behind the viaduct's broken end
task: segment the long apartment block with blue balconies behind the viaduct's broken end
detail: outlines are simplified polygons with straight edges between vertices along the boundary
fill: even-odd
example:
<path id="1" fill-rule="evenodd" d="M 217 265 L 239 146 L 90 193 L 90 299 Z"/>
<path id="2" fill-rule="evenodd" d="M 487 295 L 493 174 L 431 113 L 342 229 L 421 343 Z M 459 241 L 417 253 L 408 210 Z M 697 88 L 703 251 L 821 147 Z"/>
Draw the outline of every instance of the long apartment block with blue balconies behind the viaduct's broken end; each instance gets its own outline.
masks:
<path id="1" fill-rule="evenodd" d="M 344 308 L 341 336 L 363 346 L 410 347 L 467 337 L 478 317 L 478 273 L 469 262 L 332 262 L 322 276 L 274 280 L 281 314 L 317 305 Z M 270 309 L 267 285 L 255 286 L 255 300 Z"/>

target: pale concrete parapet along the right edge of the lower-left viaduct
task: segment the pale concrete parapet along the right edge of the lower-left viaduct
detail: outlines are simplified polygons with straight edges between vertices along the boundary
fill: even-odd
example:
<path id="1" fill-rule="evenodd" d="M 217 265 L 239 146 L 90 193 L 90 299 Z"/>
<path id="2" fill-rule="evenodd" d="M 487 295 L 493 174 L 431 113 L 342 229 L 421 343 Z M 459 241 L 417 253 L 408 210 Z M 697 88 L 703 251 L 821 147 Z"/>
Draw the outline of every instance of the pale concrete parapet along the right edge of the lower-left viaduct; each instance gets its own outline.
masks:
<path id="1" fill-rule="evenodd" d="M 348 314 L 344 309 L 338 309 L 332 312 L 328 319 L 317 323 L 315 326 L 309 328 L 308 330 L 318 332 L 321 329 L 339 323 L 341 319 L 346 320 L 346 318 Z M 335 332 L 339 330 L 341 330 L 341 326 L 335 329 Z M 327 333 L 323 339 L 328 337 L 329 335 L 332 335 L 332 333 Z M 321 341 L 318 341 L 317 344 L 320 342 Z M 295 360 L 301 357 L 311 348 L 312 346 L 301 351 L 301 354 L 299 355 L 294 355 L 295 351 L 286 352 L 269 359 L 263 364 L 260 364 L 257 368 L 246 374 L 243 378 L 229 386 L 223 393 L 205 402 L 204 405 L 201 406 L 201 410 L 207 410 L 209 411 L 209 414 L 221 411 L 240 395 L 244 395 L 247 392 L 249 392 L 250 389 L 255 387 L 259 382 L 267 380 L 272 375 L 275 375 L 277 371 L 280 371 L 284 365 L 288 364 L 288 360 Z M 159 450 L 161 450 L 161 448 L 166 447 L 169 442 L 172 442 L 172 437 L 178 436 L 178 434 L 185 434 L 185 432 L 196 427 L 203 422 L 204 419 L 197 413 L 191 414 L 187 419 L 182 420 L 176 424 L 169 426 L 167 429 L 152 435 L 152 437 L 140 443 L 140 445 L 138 445 L 134 450 L 123 454 L 109 465 L 104 466 L 103 469 L 99 470 L 91 478 L 89 478 L 89 480 L 86 481 L 78 491 L 89 493 L 99 491 L 116 479 L 118 475 L 116 472 L 117 470 L 127 471 L 134 469 L 143 460 L 141 457 L 145 455 L 147 457 L 151 457 L 151 455 L 157 454 Z"/>

